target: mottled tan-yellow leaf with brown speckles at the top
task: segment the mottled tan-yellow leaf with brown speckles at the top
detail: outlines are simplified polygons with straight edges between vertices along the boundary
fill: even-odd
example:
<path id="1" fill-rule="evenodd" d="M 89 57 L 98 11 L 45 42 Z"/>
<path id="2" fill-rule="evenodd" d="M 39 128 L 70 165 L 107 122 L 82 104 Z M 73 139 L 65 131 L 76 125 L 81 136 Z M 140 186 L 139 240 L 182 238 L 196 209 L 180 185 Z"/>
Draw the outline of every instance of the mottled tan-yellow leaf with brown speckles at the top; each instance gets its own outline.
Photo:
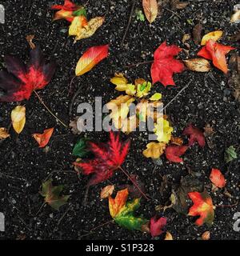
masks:
<path id="1" fill-rule="evenodd" d="M 96 17 L 90 19 L 86 26 L 79 26 L 75 42 L 83 38 L 90 38 L 102 26 L 104 20 L 104 17 Z"/>

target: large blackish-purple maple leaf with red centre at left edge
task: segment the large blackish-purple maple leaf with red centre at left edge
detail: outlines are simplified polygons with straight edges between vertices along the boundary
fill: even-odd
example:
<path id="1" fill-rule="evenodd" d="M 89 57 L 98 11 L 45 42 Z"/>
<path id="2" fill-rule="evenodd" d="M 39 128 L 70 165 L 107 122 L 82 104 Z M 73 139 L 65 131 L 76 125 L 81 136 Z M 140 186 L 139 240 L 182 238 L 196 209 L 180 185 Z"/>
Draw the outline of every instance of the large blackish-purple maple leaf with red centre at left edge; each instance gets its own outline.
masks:
<path id="1" fill-rule="evenodd" d="M 5 57 L 6 70 L 0 71 L 0 102 L 20 102 L 29 99 L 33 90 L 43 89 L 53 77 L 56 64 L 46 64 L 40 48 L 30 51 L 30 62 L 25 65 L 20 59 Z"/>

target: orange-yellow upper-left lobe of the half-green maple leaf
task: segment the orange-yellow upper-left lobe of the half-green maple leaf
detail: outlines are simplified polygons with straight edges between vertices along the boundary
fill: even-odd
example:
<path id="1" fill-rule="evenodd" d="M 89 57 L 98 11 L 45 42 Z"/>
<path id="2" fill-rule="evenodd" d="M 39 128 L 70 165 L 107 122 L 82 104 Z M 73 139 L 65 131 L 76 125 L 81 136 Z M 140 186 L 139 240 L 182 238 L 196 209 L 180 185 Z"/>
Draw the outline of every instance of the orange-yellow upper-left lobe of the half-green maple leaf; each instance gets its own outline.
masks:
<path id="1" fill-rule="evenodd" d="M 120 210 L 125 206 L 127 197 L 127 189 L 118 191 L 115 198 L 109 197 L 109 210 L 112 218 L 117 216 Z"/>

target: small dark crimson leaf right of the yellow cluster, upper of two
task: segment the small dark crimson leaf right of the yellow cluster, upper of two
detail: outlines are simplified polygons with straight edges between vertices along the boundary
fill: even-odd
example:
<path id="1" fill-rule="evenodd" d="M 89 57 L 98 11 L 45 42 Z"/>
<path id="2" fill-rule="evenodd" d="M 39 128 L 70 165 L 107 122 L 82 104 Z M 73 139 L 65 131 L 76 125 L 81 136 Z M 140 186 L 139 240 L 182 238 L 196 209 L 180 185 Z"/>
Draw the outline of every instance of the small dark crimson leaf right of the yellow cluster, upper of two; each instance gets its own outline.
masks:
<path id="1" fill-rule="evenodd" d="M 205 146 L 205 137 L 202 130 L 193 126 L 191 123 L 183 130 L 182 134 L 190 136 L 188 146 L 192 146 L 194 142 L 198 142 L 199 146 Z"/>

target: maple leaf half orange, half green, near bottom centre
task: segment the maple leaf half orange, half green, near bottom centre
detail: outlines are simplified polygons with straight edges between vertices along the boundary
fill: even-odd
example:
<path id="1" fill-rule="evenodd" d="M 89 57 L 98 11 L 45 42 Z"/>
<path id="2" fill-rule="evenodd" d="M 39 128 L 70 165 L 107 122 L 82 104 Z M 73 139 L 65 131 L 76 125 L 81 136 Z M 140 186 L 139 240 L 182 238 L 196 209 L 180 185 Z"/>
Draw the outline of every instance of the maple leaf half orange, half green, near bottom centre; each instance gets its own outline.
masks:
<path id="1" fill-rule="evenodd" d="M 119 226 L 128 230 L 142 230 L 142 226 L 148 221 L 134 216 L 134 211 L 140 206 L 140 198 L 126 202 L 127 197 L 127 189 L 118 191 L 115 198 L 109 197 L 110 215 Z"/>

